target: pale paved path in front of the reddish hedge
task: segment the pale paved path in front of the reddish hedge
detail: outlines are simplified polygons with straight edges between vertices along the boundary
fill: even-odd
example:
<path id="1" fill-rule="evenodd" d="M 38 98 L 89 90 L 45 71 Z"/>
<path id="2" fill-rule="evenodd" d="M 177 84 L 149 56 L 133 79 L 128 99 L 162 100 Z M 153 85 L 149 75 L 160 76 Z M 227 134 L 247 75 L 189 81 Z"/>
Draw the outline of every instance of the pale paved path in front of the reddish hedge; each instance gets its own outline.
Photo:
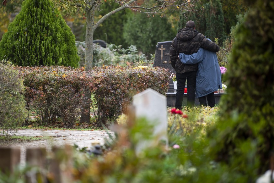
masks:
<path id="1" fill-rule="evenodd" d="M 110 134 L 113 134 L 110 132 Z M 79 148 L 91 147 L 92 143 L 103 145 L 105 139 L 109 137 L 106 130 L 80 131 L 80 130 L 41 130 L 25 129 L 17 130 L 17 136 L 50 136 L 48 140 L 22 142 L 8 145 L 8 147 L 20 148 L 20 164 L 25 164 L 25 152 L 27 148 L 45 147 L 48 151 L 52 146 L 63 147 L 65 145 L 76 144 Z M 2 146 L 3 147 L 3 146 Z"/>

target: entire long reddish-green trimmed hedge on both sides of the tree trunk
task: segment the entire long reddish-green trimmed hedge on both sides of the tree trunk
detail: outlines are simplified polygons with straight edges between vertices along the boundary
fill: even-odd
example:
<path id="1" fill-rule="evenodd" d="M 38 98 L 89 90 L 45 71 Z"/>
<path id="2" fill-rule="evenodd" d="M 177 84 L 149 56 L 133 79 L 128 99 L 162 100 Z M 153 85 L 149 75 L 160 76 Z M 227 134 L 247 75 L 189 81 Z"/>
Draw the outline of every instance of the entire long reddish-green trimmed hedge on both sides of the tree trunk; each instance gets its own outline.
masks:
<path id="1" fill-rule="evenodd" d="M 81 112 L 86 87 L 92 92 L 98 127 L 116 119 L 136 93 L 152 88 L 165 95 L 168 90 L 164 68 L 106 66 L 94 67 L 90 73 L 62 66 L 18 68 L 26 86 L 26 106 L 38 111 L 44 125 L 61 116 L 64 127 L 71 128 Z"/>

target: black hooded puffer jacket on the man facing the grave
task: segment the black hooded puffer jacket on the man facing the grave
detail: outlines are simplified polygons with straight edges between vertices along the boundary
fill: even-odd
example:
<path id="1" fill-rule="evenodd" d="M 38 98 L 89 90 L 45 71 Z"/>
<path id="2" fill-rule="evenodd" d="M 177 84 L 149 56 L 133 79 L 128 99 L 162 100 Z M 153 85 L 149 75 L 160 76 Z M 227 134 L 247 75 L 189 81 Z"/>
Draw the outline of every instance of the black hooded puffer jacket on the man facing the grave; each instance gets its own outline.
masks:
<path id="1" fill-rule="evenodd" d="M 207 40 L 207 38 L 192 28 L 183 28 L 178 31 L 176 37 L 173 39 L 169 51 L 170 62 L 176 73 L 185 73 L 198 70 L 197 64 L 187 65 L 183 64 L 179 58 L 179 53 L 191 55 L 197 53 L 202 47 L 212 52 L 218 52 L 219 47 L 216 43 Z"/>

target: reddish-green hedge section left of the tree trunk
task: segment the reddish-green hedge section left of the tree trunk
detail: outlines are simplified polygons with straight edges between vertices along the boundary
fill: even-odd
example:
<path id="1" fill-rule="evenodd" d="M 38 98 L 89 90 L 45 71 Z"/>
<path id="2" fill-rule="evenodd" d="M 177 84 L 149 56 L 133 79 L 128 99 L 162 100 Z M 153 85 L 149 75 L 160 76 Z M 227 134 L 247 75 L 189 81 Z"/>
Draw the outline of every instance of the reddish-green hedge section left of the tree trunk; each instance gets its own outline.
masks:
<path id="1" fill-rule="evenodd" d="M 41 124 L 61 116 L 64 127 L 73 127 L 80 115 L 83 89 L 93 88 L 92 76 L 71 67 L 19 67 L 26 86 L 25 101 L 39 112 Z"/>

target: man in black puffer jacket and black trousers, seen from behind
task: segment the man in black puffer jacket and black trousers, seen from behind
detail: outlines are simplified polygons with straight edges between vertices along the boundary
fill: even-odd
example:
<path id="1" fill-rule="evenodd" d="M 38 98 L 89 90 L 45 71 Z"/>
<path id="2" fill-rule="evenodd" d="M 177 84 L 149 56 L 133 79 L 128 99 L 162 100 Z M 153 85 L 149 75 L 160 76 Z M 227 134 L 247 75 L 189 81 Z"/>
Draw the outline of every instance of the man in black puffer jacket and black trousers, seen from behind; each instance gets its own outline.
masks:
<path id="1" fill-rule="evenodd" d="M 216 43 L 207 40 L 204 35 L 195 30 L 195 23 L 190 20 L 186 22 L 185 28 L 178 31 L 169 51 L 171 66 L 176 71 L 177 93 L 175 108 L 177 109 L 182 109 L 185 80 L 187 82 L 187 106 L 194 106 L 196 72 L 198 70 L 197 64 L 183 64 L 178 55 L 179 53 L 187 55 L 197 53 L 200 47 L 212 52 L 218 52 L 220 49 Z"/>

